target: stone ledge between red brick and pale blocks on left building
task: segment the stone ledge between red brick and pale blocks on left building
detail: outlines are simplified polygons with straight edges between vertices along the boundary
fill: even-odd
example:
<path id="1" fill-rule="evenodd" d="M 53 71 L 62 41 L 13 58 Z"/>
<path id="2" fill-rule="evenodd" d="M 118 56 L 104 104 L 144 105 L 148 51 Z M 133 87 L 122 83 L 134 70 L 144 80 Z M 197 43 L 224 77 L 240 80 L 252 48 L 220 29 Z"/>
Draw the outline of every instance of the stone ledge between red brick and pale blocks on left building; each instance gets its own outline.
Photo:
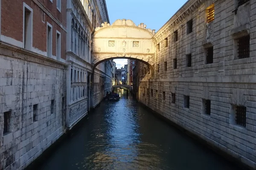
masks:
<path id="1" fill-rule="evenodd" d="M 34 53 L 32 51 L 27 51 L 23 48 L 13 46 L 9 43 L 0 41 L 0 48 L 6 48 L 7 50 L 0 50 L 0 54 L 14 57 L 18 59 L 23 59 L 25 61 L 36 62 L 42 65 L 48 65 L 55 68 L 67 69 L 67 64 L 63 62 L 59 62 L 55 59 L 51 59 L 49 57 L 45 57 L 43 55 Z M 9 51 L 8 51 L 9 50 Z M 38 58 L 39 60 L 35 59 Z"/>

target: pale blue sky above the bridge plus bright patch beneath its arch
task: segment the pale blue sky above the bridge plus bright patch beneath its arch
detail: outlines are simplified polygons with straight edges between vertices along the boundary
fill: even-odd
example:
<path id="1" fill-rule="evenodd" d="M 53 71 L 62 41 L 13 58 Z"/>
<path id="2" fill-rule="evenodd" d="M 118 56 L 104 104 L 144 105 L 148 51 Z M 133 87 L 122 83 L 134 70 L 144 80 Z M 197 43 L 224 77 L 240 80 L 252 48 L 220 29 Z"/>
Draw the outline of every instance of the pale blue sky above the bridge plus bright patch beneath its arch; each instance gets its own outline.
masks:
<path id="1" fill-rule="evenodd" d="M 106 0 L 112 24 L 117 19 L 129 19 L 136 25 L 158 31 L 187 0 Z M 114 59 L 116 67 L 127 64 L 127 59 Z"/>

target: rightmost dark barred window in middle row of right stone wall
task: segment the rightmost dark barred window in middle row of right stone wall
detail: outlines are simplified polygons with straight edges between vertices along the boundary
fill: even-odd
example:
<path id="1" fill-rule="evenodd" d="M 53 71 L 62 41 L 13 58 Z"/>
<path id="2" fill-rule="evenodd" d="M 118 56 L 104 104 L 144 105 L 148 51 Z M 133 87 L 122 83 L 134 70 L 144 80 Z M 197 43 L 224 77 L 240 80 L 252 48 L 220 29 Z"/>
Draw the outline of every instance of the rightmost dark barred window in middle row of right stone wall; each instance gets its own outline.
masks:
<path id="1" fill-rule="evenodd" d="M 250 57 L 250 35 L 238 39 L 238 58 Z"/>

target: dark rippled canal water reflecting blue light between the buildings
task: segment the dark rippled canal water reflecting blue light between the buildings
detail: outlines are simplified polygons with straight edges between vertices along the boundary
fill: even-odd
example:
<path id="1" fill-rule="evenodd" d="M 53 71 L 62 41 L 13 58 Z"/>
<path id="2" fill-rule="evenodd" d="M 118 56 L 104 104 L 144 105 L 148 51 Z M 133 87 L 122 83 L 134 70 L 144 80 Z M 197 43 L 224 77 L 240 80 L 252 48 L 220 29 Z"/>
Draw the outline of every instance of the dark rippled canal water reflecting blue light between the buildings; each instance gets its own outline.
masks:
<path id="1" fill-rule="evenodd" d="M 126 94 L 102 102 L 37 170 L 238 170 Z"/>

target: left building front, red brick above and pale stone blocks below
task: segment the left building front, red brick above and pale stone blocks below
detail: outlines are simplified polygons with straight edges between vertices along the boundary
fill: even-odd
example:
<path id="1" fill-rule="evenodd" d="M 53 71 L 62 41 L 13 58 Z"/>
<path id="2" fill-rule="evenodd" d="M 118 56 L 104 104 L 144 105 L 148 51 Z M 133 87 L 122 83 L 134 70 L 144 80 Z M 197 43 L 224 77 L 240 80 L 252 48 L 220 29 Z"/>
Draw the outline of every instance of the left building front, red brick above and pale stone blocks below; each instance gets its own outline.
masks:
<path id="1" fill-rule="evenodd" d="M 65 132 L 66 9 L 0 0 L 0 169 L 23 169 Z"/>

